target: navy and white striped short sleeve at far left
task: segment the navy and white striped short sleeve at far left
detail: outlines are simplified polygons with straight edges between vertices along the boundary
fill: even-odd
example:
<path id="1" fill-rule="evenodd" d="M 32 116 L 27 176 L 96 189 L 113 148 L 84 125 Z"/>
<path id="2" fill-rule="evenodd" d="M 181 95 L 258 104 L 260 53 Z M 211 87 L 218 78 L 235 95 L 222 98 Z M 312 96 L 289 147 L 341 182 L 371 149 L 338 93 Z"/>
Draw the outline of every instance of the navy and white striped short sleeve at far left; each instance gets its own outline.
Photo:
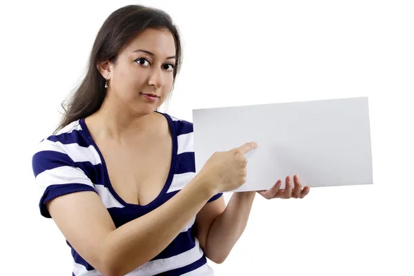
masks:
<path id="1" fill-rule="evenodd" d="M 50 218 L 46 202 L 61 195 L 95 191 L 92 181 L 55 142 L 43 139 L 32 156 L 35 183 L 41 190 L 40 213 Z"/>

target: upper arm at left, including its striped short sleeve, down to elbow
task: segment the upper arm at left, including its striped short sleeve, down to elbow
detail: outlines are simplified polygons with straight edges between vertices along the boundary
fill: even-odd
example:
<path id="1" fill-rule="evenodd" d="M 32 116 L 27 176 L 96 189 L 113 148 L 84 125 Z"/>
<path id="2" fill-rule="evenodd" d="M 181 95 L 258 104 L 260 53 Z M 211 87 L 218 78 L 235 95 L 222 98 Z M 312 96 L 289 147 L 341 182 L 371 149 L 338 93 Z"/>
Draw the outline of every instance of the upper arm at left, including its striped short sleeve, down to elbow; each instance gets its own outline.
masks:
<path id="1" fill-rule="evenodd" d="M 97 195 L 92 181 L 51 141 L 42 141 L 32 157 L 37 186 L 42 190 L 39 208 L 52 217 L 69 244 L 97 270 L 102 268 L 103 239 L 115 225 Z M 102 272 L 102 271 L 101 271 Z"/>

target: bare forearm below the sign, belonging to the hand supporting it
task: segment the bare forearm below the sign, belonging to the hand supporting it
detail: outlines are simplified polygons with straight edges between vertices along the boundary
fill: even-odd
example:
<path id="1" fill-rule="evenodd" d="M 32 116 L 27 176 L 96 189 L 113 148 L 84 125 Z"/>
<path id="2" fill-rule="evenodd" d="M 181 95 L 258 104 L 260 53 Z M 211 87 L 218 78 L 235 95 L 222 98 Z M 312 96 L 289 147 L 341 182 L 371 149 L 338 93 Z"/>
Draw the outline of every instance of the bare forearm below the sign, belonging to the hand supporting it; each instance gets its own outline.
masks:
<path id="1" fill-rule="evenodd" d="M 234 193 L 221 215 L 213 222 L 207 236 L 206 255 L 224 262 L 246 228 L 255 192 Z"/>

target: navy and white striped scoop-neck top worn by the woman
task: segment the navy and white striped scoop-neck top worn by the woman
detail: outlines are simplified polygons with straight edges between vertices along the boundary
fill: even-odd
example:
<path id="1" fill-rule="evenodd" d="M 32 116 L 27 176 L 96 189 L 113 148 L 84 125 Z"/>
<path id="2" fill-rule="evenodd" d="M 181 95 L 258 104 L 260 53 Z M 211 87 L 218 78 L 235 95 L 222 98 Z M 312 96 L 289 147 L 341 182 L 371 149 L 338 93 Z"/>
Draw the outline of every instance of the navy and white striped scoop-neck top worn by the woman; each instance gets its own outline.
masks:
<path id="1" fill-rule="evenodd" d="M 150 204 L 126 203 L 112 188 L 105 161 L 93 141 L 85 120 L 79 119 L 43 139 L 32 157 L 36 184 L 41 188 L 40 213 L 50 218 L 46 202 L 60 195 L 83 190 L 95 191 L 106 206 L 116 227 L 141 217 L 164 204 L 195 176 L 193 124 L 161 113 L 172 135 L 172 159 L 168 179 Z M 219 198 L 215 195 L 209 201 Z M 132 275 L 213 275 L 194 231 L 195 217 L 159 255 L 128 273 Z M 70 244 L 66 241 L 68 246 Z M 75 276 L 102 275 L 70 246 Z"/>

